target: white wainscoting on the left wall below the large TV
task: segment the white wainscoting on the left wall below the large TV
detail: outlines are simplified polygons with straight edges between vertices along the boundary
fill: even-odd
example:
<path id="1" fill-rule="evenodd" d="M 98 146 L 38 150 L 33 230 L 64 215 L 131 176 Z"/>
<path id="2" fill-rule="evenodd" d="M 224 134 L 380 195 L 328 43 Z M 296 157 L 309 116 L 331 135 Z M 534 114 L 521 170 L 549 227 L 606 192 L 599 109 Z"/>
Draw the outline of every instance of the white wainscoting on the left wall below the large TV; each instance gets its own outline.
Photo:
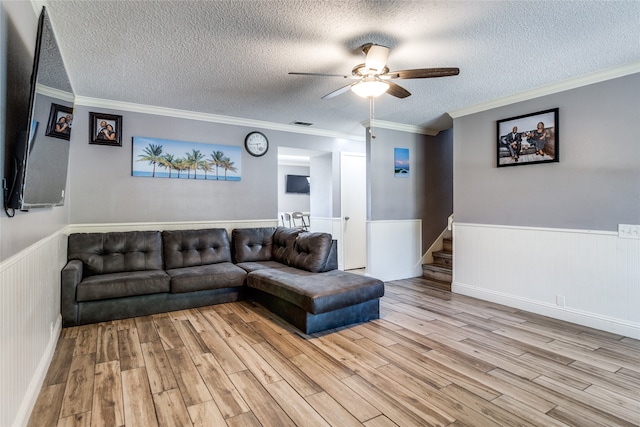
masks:
<path id="1" fill-rule="evenodd" d="M 63 230 L 0 263 L 0 425 L 26 425 L 60 334 Z"/>

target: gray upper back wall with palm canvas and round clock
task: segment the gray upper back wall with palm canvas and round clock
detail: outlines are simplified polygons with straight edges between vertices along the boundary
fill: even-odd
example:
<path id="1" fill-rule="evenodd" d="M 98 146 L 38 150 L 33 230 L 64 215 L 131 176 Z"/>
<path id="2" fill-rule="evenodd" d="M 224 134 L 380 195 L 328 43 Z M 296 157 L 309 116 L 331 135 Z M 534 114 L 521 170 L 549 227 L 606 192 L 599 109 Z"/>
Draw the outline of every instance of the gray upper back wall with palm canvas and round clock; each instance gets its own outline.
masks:
<path id="1" fill-rule="evenodd" d="M 89 112 L 123 116 L 123 146 L 88 144 Z M 278 146 L 364 151 L 362 141 L 258 129 L 269 151 L 242 150 L 242 180 L 187 181 L 131 176 L 133 136 L 244 146 L 254 128 L 76 106 L 70 158 L 71 223 L 276 219 Z"/>

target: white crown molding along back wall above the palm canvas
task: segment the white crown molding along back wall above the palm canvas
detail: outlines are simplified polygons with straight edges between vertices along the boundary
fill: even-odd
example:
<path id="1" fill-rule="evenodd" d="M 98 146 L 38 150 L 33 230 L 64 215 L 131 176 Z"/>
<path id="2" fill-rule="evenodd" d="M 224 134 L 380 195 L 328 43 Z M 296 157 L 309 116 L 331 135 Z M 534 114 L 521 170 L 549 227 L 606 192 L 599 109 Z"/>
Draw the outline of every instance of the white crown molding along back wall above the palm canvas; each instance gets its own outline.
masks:
<path id="1" fill-rule="evenodd" d="M 329 138 L 349 139 L 364 141 L 364 135 L 352 135 L 334 132 L 325 129 L 314 129 L 295 125 L 283 125 L 280 123 L 266 122 L 262 120 L 245 119 L 241 117 L 223 116 L 218 114 L 199 113 L 196 111 L 179 110 L 175 108 L 157 107 L 153 105 L 136 104 L 132 102 L 114 101 L 110 99 L 91 98 L 88 96 L 76 96 L 76 105 L 85 107 L 107 108 L 134 113 L 152 114 L 156 116 L 168 116 L 181 119 L 199 120 L 203 122 L 222 123 L 225 125 L 245 126 L 250 128 L 270 129 L 282 132 L 292 132 Z"/>

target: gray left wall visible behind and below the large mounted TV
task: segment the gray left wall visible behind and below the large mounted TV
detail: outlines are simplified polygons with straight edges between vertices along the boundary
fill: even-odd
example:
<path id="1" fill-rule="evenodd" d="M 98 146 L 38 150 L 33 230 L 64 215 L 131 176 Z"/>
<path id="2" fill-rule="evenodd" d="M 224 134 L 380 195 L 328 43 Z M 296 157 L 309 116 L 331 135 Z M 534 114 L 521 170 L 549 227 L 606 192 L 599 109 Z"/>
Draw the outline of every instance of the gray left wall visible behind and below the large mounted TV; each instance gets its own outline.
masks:
<path id="1" fill-rule="evenodd" d="M 12 173 L 16 131 L 27 129 L 29 87 L 38 16 L 31 2 L 0 2 L 0 168 Z M 22 123 L 24 121 L 24 123 Z M 69 222 L 69 203 L 57 208 L 0 213 L 0 261 L 60 230 Z"/>

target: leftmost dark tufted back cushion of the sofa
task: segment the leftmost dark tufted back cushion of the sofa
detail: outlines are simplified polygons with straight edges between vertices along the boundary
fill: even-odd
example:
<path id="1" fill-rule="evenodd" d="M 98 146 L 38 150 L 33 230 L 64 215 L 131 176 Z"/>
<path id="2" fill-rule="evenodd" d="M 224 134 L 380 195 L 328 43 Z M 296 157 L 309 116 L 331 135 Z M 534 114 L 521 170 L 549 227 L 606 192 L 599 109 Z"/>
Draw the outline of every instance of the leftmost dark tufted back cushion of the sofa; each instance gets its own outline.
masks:
<path id="1" fill-rule="evenodd" d="M 162 270 L 162 240 L 159 231 L 74 233 L 67 258 L 82 261 L 87 276 Z"/>

